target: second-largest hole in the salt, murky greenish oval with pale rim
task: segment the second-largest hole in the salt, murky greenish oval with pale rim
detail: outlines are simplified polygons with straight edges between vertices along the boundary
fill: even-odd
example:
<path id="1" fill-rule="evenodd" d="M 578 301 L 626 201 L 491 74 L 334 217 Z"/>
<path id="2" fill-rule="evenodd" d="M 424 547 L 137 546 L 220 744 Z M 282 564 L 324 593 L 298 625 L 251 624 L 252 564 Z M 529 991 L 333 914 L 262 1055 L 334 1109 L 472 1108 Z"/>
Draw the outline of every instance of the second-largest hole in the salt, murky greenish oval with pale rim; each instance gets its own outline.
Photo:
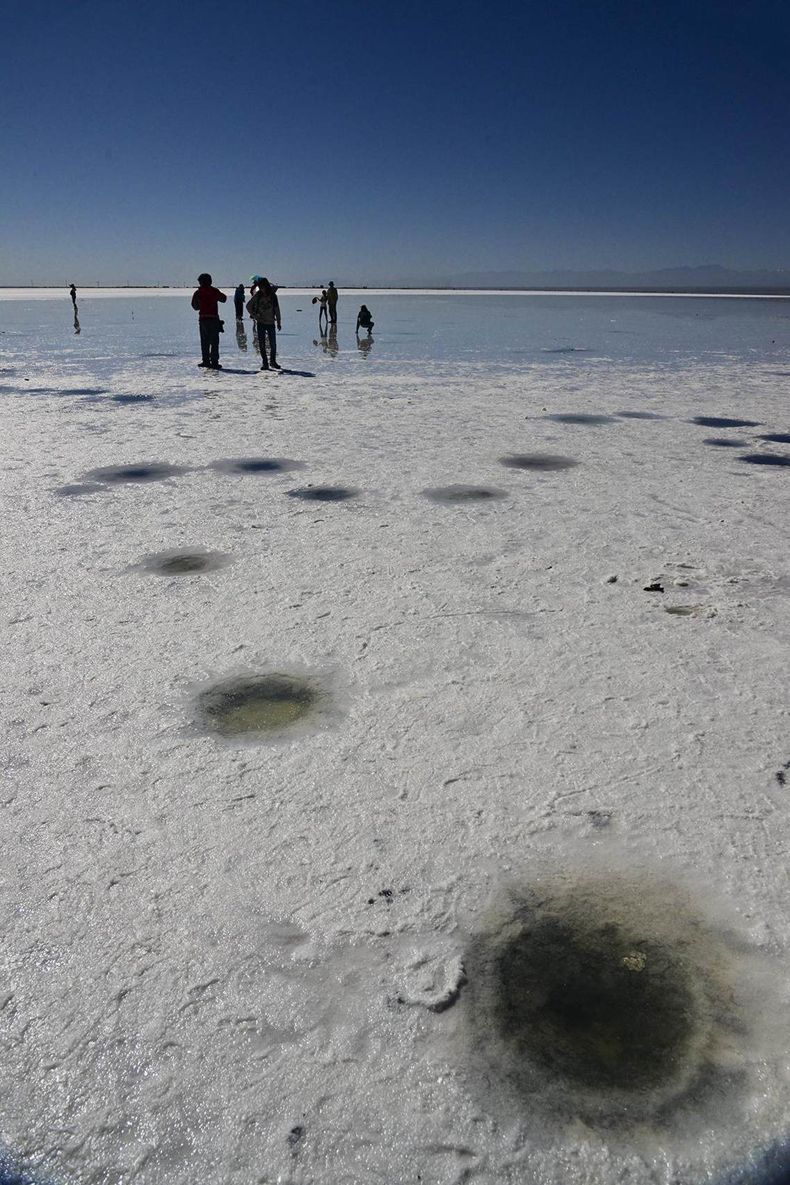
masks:
<path id="1" fill-rule="evenodd" d="M 332 718 L 326 681 L 302 672 L 270 671 L 220 679 L 195 697 L 204 731 L 226 739 L 278 741 Z"/>

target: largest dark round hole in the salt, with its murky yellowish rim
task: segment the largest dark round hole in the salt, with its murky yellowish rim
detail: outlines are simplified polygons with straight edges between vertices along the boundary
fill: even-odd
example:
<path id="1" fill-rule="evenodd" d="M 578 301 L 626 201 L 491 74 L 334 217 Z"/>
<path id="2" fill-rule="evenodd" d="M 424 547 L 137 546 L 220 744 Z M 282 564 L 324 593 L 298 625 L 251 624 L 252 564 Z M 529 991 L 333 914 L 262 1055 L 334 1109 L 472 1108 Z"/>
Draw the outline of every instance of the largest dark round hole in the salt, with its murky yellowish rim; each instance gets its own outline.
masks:
<path id="1" fill-rule="evenodd" d="M 464 968 L 487 1107 L 534 1122 L 537 1140 L 576 1121 L 619 1152 L 677 1145 L 683 1159 L 711 1158 L 694 1180 L 749 1155 L 746 1116 L 770 1097 L 766 1061 L 781 1076 L 786 1026 L 767 959 L 675 878 L 605 866 L 510 884 Z"/>

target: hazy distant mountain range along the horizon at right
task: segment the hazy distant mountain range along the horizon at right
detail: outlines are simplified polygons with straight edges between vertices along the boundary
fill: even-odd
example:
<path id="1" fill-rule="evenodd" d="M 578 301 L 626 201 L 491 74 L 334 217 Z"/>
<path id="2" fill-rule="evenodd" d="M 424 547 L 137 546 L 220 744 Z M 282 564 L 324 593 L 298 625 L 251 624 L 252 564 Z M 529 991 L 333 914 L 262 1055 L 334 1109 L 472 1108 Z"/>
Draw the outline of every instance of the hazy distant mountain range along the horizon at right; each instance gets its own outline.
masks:
<path id="1" fill-rule="evenodd" d="M 718 263 L 655 271 L 464 271 L 433 281 L 441 288 L 596 288 L 629 292 L 790 292 L 790 270 L 737 271 Z M 428 287 L 428 286 L 426 286 Z"/>

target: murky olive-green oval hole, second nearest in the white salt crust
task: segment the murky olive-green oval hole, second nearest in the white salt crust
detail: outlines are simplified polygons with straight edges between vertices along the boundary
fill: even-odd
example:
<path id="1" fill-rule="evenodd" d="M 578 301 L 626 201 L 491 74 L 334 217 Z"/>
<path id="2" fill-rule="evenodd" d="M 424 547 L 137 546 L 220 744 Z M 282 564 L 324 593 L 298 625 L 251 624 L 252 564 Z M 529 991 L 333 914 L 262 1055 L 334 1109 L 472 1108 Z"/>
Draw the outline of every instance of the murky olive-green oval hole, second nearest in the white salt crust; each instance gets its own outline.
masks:
<path id="1" fill-rule="evenodd" d="M 239 675 L 201 692 L 198 706 L 206 728 L 223 736 L 242 736 L 297 724 L 314 715 L 325 697 L 315 684 L 294 675 Z"/>

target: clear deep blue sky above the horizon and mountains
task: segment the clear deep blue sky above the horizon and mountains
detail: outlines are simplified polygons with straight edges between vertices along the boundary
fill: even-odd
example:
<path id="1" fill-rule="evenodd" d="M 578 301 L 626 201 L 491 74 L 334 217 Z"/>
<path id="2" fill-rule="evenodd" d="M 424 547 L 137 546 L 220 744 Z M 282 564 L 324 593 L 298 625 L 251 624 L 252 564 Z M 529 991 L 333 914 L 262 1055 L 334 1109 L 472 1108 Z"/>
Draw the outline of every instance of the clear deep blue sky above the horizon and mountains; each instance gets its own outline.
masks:
<path id="1" fill-rule="evenodd" d="M 785 0 L 4 0 L 0 283 L 790 267 Z"/>

